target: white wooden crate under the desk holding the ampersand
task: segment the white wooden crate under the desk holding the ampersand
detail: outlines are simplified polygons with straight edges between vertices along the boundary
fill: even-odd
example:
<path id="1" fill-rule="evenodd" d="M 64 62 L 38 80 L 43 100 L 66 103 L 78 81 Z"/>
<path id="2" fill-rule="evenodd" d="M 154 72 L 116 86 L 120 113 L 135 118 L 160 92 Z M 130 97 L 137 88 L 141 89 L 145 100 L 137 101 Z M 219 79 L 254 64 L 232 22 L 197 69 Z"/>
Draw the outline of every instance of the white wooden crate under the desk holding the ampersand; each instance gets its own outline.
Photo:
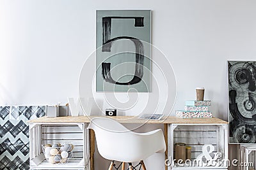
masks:
<path id="1" fill-rule="evenodd" d="M 175 143 L 191 146 L 191 162 L 202 153 L 202 146 L 213 145 L 214 152 L 222 153 L 220 160 L 228 160 L 228 125 L 227 124 L 170 124 L 168 125 L 168 158 L 175 159 Z M 168 169 L 228 169 L 228 166 L 178 166 L 173 163 Z"/>

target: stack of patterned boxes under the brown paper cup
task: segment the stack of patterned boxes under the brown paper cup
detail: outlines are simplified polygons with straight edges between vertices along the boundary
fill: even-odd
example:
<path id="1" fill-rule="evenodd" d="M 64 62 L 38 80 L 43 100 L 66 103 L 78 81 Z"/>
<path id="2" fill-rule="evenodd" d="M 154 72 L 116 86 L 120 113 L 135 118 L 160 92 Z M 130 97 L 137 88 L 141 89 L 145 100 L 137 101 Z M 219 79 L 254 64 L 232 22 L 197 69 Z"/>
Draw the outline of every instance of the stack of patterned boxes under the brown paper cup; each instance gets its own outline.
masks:
<path id="1" fill-rule="evenodd" d="M 186 101 L 185 110 L 177 110 L 175 114 L 180 118 L 211 118 L 209 106 L 211 101 Z"/>

